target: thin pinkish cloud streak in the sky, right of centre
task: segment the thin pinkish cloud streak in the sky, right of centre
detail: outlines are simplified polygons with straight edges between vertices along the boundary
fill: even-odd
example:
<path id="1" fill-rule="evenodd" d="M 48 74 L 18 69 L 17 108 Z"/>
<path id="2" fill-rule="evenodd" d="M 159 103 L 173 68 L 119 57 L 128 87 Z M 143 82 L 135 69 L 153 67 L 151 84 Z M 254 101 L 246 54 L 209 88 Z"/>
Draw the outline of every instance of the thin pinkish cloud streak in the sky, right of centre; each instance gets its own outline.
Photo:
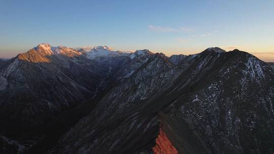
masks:
<path id="1" fill-rule="evenodd" d="M 158 31 L 158 32 L 188 32 L 191 31 L 192 28 L 188 27 L 179 27 L 179 28 L 172 28 L 172 27 L 162 27 L 162 26 L 148 26 L 150 30 Z"/>

